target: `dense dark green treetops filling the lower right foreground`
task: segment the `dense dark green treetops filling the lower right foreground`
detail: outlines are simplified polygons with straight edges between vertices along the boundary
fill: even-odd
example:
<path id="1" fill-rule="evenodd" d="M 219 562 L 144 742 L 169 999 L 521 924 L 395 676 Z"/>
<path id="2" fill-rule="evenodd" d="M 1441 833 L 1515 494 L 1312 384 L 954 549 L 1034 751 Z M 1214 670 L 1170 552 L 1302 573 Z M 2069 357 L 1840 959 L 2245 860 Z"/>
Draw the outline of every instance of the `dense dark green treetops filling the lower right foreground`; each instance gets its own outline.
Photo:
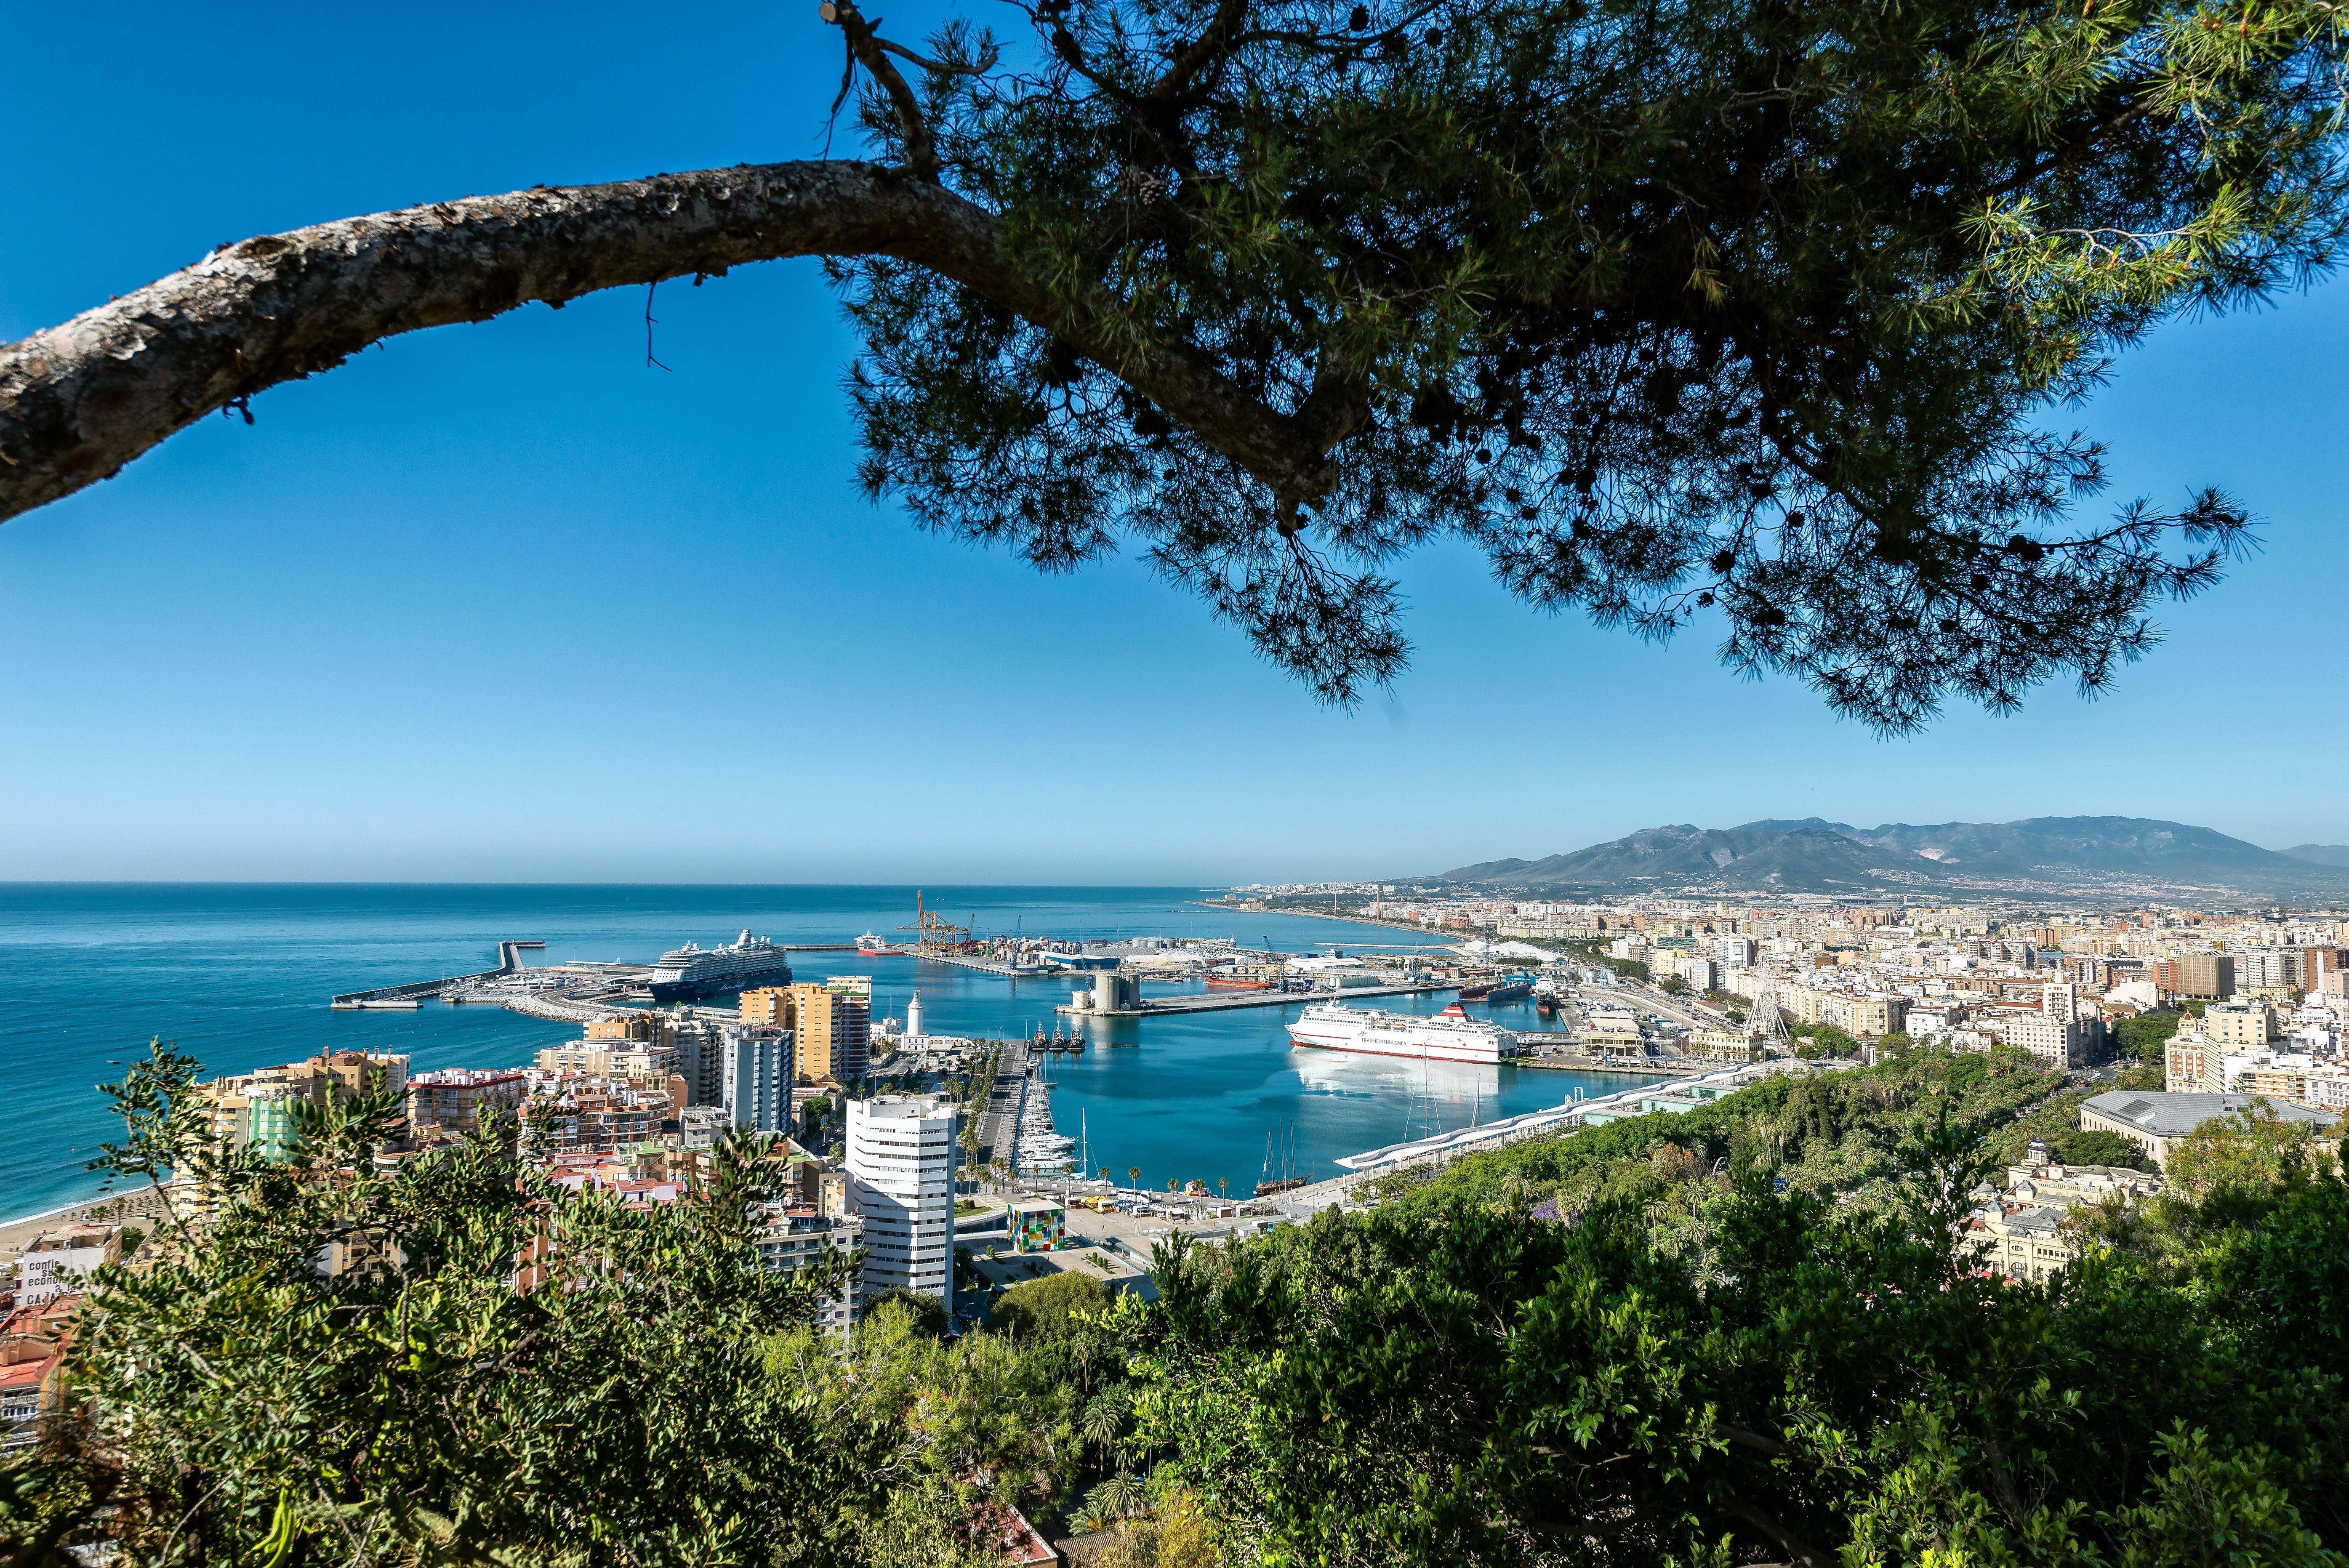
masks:
<path id="1" fill-rule="evenodd" d="M 1755 1171 L 1705 1268 L 1611 1197 L 1186 1253 L 1144 1439 L 1261 1563 L 2340 1566 L 2349 1357 L 2295 1326 L 2349 1286 L 2349 1188 L 2006 1284 L 1952 1263 L 1931 1143 L 1907 1211 Z"/>

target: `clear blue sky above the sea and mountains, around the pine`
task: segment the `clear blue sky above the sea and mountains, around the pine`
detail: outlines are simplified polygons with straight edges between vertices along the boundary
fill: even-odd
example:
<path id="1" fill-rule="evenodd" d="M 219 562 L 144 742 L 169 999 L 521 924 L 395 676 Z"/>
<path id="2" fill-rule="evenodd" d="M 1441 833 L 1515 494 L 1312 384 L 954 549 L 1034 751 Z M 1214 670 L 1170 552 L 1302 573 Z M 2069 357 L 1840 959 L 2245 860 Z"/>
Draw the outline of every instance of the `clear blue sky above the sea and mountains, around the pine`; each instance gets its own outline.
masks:
<path id="1" fill-rule="evenodd" d="M 242 235 L 808 157 L 839 82 L 813 2 L 14 7 L 0 52 L 38 85 L 0 338 Z M 1045 580 L 860 500 L 813 261 L 665 286 L 674 373 L 641 312 L 397 338 L 0 526 L 0 878 L 1221 883 L 1804 815 L 2349 840 L 2349 284 L 2175 324 L 2065 415 L 2116 493 L 2234 488 L 2264 552 L 2119 692 L 1898 742 L 1459 549 L 1402 566 L 1393 702 L 1325 714 L 1132 561 Z"/>

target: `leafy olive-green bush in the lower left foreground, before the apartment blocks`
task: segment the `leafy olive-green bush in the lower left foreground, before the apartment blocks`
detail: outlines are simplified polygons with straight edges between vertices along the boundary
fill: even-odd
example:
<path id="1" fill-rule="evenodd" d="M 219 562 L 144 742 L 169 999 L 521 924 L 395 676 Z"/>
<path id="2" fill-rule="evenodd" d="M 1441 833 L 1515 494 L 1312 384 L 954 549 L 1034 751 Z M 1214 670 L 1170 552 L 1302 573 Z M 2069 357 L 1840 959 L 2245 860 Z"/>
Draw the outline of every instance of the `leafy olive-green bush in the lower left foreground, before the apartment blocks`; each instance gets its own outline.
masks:
<path id="1" fill-rule="evenodd" d="M 193 1077 L 132 1068 L 115 1160 L 211 1169 L 218 1211 L 101 1272 L 85 1418 L 31 1460 L 47 1530 L 103 1505 L 127 1561 L 714 1561 L 836 1556 L 881 1507 L 886 1432 L 759 1371 L 822 1284 L 759 1268 L 773 1138 L 630 1209 L 533 1181 L 510 1124 L 385 1174 L 395 1096 L 305 1106 L 289 1164 L 228 1155 Z"/>

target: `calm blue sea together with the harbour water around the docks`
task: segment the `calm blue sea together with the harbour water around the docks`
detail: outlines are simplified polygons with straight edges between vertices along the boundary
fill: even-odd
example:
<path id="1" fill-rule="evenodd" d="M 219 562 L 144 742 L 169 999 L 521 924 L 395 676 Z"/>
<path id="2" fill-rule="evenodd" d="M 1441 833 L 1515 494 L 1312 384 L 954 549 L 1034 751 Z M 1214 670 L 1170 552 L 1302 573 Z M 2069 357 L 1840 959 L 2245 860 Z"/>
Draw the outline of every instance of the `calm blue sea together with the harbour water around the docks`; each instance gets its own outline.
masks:
<path id="1" fill-rule="evenodd" d="M 1203 908 L 1186 887 L 933 887 L 930 908 L 980 932 L 1238 937 L 1283 951 L 1405 946 L 1374 925 Z M 911 887 L 432 887 L 0 883 L 0 1218 L 92 1197 L 82 1169 L 117 1129 L 94 1084 L 155 1035 L 221 1073 L 322 1047 L 406 1052 L 416 1068 L 526 1063 L 578 1030 L 496 1007 L 329 1012 L 327 998 L 496 965 L 505 937 L 545 955 L 648 960 L 681 941 L 853 941 L 914 918 Z M 803 976 L 871 974 L 874 1014 L 1010 1038 L 1050 1028 L 1069 981 L 1001 981 L 911 958 L 806 953 Z M 1412 1007 L 1412 1000 L 1379 1002 Z M 1433 1012 L 1442 1002 L 1416 1009 Z M 1492 1009 L 1539 1028 L 1529 1005 Z M 1553 1070 L 1405 1066 L 1297 1052 L 1294 1007 L 1090 1023 L 1097 1049 L 1052 1066 L 1052 1113 L 1088 1164 L 1149 1185 L 1327 1176 L 1332 1157 L 1618 1089 Z"/>

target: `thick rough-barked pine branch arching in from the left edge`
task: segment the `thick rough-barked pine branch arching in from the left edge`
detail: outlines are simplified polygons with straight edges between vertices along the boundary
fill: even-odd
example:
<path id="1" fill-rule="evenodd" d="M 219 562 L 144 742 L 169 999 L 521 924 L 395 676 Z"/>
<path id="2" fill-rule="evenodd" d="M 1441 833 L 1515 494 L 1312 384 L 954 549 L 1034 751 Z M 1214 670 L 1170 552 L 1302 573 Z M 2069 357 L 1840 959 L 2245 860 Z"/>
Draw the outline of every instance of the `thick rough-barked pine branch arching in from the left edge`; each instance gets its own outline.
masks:
<path id="1" fill-rule="evenodd" d="M 261 235 L 0 345 L 0 521 L 395 333 L 752 261 L 871 254 L 935 268 L 1057 331 L 1283 500 L 1330 488 L 1322 441 L 1196 354 L 1135 357 L 1088 340 L 1088 312 L 1031 282 L 984 209 L 879 164 L 789 162 L 465 197 Z"/>

